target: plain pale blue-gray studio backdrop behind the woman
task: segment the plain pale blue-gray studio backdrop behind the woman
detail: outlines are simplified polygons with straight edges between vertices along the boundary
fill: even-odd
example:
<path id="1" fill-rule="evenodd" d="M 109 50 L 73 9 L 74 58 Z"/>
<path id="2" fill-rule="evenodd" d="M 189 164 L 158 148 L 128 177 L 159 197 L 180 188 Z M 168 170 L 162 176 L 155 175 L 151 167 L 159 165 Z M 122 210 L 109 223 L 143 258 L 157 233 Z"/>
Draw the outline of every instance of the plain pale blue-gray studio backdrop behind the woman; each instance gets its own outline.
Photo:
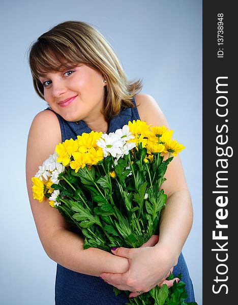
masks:
<path id="1" fill-rule="evenodd" d="M 108 39 L 129 79 L 143 79 L 142 92 L 156 99 L 174 138 L 186 146 L 180 156 L 194 223 L 183 254 L 201 305 L 201 0 L 2 0 L 0 6 L 0 303 L 54 304 L 56 263 L 41 246 L 25 186 L 28 130 L 46 107 L 34 92 L 26 52 L 51 26 L 82 20 Z"/>

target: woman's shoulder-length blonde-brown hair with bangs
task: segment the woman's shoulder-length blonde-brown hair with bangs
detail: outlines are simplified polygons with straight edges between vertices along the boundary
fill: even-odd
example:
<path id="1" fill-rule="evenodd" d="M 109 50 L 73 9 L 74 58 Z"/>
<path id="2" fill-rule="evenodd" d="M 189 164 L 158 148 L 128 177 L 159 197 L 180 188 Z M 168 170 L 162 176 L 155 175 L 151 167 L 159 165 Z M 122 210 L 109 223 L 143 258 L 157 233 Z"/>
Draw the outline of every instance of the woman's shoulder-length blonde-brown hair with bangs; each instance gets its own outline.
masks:
<path id="1" fill-rule="evenodd" d="M 85 64 L 106 79 L 103 114 L 108 120 L 122 108 L 133 107 L 132 97 L 140 92 L 142 81 L 128 81 L 110 44 L 92 25 L 65 21 L 41 35 L 28 50 L 29 67 L 36 93 L 44 99 L 39 76 Z"/>

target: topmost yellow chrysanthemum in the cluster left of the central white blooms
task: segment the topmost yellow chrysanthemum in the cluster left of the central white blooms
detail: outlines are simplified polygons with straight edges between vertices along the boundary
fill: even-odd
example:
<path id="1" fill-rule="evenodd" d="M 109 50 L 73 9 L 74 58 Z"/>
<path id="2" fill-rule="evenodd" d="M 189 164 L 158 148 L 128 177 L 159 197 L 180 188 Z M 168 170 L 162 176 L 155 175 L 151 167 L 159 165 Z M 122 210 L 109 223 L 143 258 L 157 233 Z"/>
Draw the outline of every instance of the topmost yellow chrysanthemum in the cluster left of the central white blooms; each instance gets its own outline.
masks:
<path id="1" fill-rule="evenodd" d="M 81 136 L 77 136 L 78 151 L 80 153 L 86 153 L 92 147 L 97 148 L 97 140 L 101 137 L 102 132 L 91 131 L 91 133 L 82 133 Z"/>

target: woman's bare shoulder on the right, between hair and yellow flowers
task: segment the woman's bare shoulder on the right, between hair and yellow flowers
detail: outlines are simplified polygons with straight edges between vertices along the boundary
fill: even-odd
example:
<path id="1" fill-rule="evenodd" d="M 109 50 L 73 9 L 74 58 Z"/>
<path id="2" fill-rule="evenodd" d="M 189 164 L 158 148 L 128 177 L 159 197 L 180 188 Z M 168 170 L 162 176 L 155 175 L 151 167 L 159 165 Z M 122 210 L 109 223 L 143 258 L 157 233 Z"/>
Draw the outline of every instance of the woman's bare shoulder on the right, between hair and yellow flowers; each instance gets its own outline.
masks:
<path id="1" fill-rule="evenodd" d="M 135 102 L 140 119 L 151 126 L 166 126 L 168 123 L 156 100 L 148 94 L 137 94 Z"/>

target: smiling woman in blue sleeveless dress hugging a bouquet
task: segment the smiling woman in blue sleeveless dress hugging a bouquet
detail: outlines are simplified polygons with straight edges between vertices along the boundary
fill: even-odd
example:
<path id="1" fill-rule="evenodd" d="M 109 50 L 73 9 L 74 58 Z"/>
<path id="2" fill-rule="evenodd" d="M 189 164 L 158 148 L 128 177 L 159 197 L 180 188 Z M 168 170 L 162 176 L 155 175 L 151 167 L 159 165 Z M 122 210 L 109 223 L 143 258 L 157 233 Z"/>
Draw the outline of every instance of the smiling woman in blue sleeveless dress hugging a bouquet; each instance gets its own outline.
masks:
<path id="1" fill-rule="evenodd" d="M 168 127 L 156 101 L 139 94 L 140 81 L 127 80 L 108 42 L 85 22 L 66 21 L 40 36 L 29 49 L 29 65 L 35 90 L 49 107 L 36 115 L 29 130 L 27 188 L 44 250 L 57 262 L 56 304 L 124 304 L 128 296 L 115 296 L 112 286 L 136 297 L 156 285 L 171 287 L 173 281 L 166 281 L 171 271 L 174 275 L 182 272 L 188 301 L 193 301 L 181 254 L 193 212 L 179 157 L 169 165 L 162 186 L 167 205 L 160 236 L 152 236 L 138 249 L 117 248 L 112 254 L 95 248 L 83 250 L 83 238 L 61 214 L 47 200 L 39 204 L 32 199 L 31 177 L 56 144 L 91 130 L 114 132 L 133 119 Z"/>

